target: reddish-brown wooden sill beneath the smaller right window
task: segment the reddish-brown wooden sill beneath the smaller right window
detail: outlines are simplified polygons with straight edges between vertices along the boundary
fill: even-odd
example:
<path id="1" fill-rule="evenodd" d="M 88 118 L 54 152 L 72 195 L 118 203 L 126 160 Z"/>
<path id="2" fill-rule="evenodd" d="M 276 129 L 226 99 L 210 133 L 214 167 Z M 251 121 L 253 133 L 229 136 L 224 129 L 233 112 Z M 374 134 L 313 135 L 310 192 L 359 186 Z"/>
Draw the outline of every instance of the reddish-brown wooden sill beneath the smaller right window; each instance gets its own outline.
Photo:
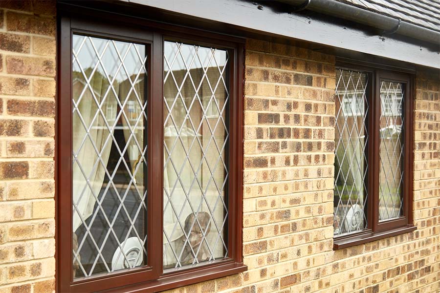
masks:
<path id="1" fill-rule="evenodd" d="M 353 235 L 351 237 L 344 237 L 342 239 L 335 239 L 333 241 L 333 250 L 343 249 L 375 240 L 380 240 L 387 237 L 392 237 L 392 236 L 412 232 L 416 229 L 417 229 L 416 226 L 406 225 L 392 230 L 386 230 L 380 232 L 367 232 L 360 235 L 359 234 Z"/>

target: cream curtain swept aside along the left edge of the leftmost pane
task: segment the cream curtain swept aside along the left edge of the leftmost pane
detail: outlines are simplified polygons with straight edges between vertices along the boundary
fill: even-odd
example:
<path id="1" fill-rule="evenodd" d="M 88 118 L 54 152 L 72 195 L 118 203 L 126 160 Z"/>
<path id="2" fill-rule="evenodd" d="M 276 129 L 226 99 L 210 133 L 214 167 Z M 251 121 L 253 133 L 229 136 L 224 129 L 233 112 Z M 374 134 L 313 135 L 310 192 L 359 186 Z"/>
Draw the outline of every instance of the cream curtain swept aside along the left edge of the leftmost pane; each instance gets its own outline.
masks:
<path id="1" fill-rule="evenodd" d="M 86 83 L 79 78 L 73 80 L 74 98 L 80 96 L 80 92 L 85 85 Z M 92 214 L 96 202 L 95 196 L 97 197 L 99 195 L 105 178 L 105 168 L 103 165 L 106 166 L 109 161 L 112 140 L 110 138 L 106 144 L 110 132 L 104 123 L 102 115 L 98 115 L 98 117 L 95 118 L 98 106 L 94 102 L 93 95 L 96 100 L 101 103 L 105 91 L 108 89 L 108 85 L 109 83 L 103 75 L 95 73 L 90 81 L 92 90 L 90 90 L 90 88 L 86 90 L 82 100 L 78 104 L 76 112 L 73 113 L 72 145 L 75 153 L 78 151 L 86 136 L 86 128 L 83 126 L 78 112 L 83 118 L 85 125 L 87 127 L 91 126 L 89 136 L 86 138 L 81 150 L 77 153 L 77 162 L 73 164 L 73 202 L 77 205 L 77 209 L 73 211 L 73 231 L 81 226 L 81 218 L 85 221 Z M 118 84 L 115 84 L 115 90 L 119 90 Z M 102 106 L 102 111 L 110 126 L 114 123 L 116 118 L 114 116 L 116 108 L 116 97 L 113 92 L 110 91 Z M 95 164 L 98 160 L 98 155 L 92 141 L 101 154 L 102 164 L 98 163 L 97 166 L 95 166 Z M 86 178 L 89 178 L 90 186 L 88 186 Z"/>

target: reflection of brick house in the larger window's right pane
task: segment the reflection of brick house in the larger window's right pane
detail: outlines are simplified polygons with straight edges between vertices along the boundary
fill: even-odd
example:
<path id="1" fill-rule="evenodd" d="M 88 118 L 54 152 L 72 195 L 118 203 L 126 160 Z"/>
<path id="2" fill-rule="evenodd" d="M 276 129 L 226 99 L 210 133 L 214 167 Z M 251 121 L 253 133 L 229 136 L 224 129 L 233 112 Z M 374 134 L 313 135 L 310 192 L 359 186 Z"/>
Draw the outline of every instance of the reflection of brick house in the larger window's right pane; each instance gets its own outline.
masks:
<path id="1" fill-rule="evenodd" d="M 222 70 L 222 68 L 220 68 L 220 70 Z M 225 72 L 226 71 L 227 70 L 225 70 Z M 166 76 L 166 74 L 167 72 L 164 73 L 164 76 Z M 171 114 L 177 126 L 176 129 L 171 119 L 166 121 L 164 129 L 165 143 L 167 144 L 168 148 L 171 148 L 172 144 L 176 140 L 176 131 L 179 131 L 181 127 L 181 134 L 184 133 L 187 135 L 185 139 L 188 139 L 191 142 L 193 139 L 197 139 L 196 136 L 198 139 L 201 139 L 200 143 L 202 148 L 200 148 L 200 146 L 198 146 L 198 142 L 195 141 L 190 151 L 190 160 L 199 162 L 200 158 L 203 156 L 203 153 L 219 153 L 214 144 L 214 140 L 220 150 L 223 146 L 226 133 L 223 122 L 220 119 L 219 109 L 222 111 L 227 98 L 227 93 L 225 91 L 223 82 L 220 80 L 220 82 L 217 83 L 220 79 L 220 72 L 217 67 L 208 67 L 205 77 L 203 77 L 204 72 L 202 68 L 192 68 L 189 70 L 189 75 L 186 76 L 186 74 L 187 70 L 184 69 L 173 70 L 174 79 L 170 75 L 164 84 L 164 97 L 168 107 L 171 108 L 173 103 L 175 103 L 175 106 L 173 106 L 171 110 Z M 184 78 L 185 81 L 183 82 Z M 225 74 L 223 75 L 223 78 L 227 83 L 228 78 Z M 179 85 L 181 85 L 183 82 L 183 85 L 180 88 L 181 97 L 177 94 L 174 80 L 176 80 L 177 84 Z M 195 88 L 198 89 L 197 95 Z M 182 106 L 182 103 L 185 103 L 185 106 L 189 111 L 189 115 L 187 115 L 185 107 Z M 226 109 L 222 111 L 222 119 L 224 121 L 227 120 L 225 118 L 225 112 Z M 211 131 L 214 132 L 213 139 L 211 139 Z M 167 136 L 167 133 L 173 135 Z M 225 155 L 224 152 L 222 155 Z M 218 157 L 207 156 L 207 158 L 212 158 L 212 161 L 209 162 L 209 166 L 213 168 L 217 163 Z M 221 181 L 224 176 L 223 173 L 224 168 L 222 167 L 222 162 L 219 161 L 217 163 L 217 168 L 215 169 L 215 178 L 216 181 L 220 181 L 220 185 L 222 184 Z M 198 175 L 200 177 L 199 180 L 203 185 L 208 184 L 211 173 L 205 161 Z M 221 179 L 219 180 L 218 178 Z M 212 182 L 210 182 L 209 185 L 210 189 L 216 190 Z"/>

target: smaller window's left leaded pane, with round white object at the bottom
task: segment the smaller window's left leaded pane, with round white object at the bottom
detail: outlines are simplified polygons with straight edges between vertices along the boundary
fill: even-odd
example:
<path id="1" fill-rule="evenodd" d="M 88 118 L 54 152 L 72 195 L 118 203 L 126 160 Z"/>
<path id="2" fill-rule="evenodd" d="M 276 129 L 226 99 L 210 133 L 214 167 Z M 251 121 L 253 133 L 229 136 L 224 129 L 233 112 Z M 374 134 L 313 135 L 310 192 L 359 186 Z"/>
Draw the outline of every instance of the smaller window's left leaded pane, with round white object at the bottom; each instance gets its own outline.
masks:
<path id="1" fill-rule="evenodd" d="M 367 228 L 369 81 L 365 73 L 343 69 L 337 80 L 333 227 L 340 236 Z"/>

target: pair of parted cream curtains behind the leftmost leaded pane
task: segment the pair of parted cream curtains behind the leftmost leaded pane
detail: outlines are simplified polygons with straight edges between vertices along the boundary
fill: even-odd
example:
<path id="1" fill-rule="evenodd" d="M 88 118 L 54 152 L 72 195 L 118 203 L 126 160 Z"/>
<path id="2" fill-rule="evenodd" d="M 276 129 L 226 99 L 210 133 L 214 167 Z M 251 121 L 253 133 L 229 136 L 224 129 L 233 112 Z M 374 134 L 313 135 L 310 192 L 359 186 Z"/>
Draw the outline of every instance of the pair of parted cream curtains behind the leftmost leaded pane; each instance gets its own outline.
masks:
<path id="1" fill-rule="evenodd" d="M 82 83 L 81 83 L 82 84 Z M 143 102 L 143 76 L 139 77 L 139 80 L 135 84 L 136 92 L 138 93 L 139 99 Z M 108 89 L 107 79 L 100 75 L 94 75 L 92 81 L 90 82 L 90 86 L 93 89 L 93 93 L 97 99 L 97 101 L 102 102 L 103 95 L 105 91 Z M 80 87 L 80 86 L 78 86 Z M 75 83 L 74 83 L 75 88 Z M 128 99 L 127 103 L 124 106 L 124 112 L 129 119 L 129 123 L 132 129 L 136 125 L 136 121 L 142 112 L 142 108 L 139 105 L 139 102 L 131 89 L 131 84 L 125 80 L 122 83 L 114 83 L 115 92 L 118 97 L 115 97 L 112 90 L 108 93 L 106 100 L 104 101 L 101 109 L 107 119 L 109 126 L 111 127 L 111 133 L 113 134 L 113 125 L 115 124 L 115 119 L 118 113 L 118 104 L 117 100 L 120 100 L 121 105 L 124 105 L 125 100 Z M 74 96 L 75 93 L 74 92 Z M 79 96 L 79 94 L 78 94 Z M 92 123 L 92 120 L 97 111 L 97 105 L 93 101 L 93 97 L 91 91 L 88 90 L 84 96 L 83 101 L 79 103 L 78 110 L 81 113 L 81 116 L 87 126 Z M 124 138 L 127 143 L 130 138 L 131 131 L 127 125 L 127 121 L 121 116 Z M 143 146 L 143 126 L 144 119 L 141 118 L 134 128 L 134 136 L 137 139 L 137 142 L 142 149 Z M 73 214 L 73 231 L 75 231 L 79 226 L 81 226 L 82 221 L 80 218 L 83 218 L 85 221 L 92 213 L 93 208 L 96 203 L 96 198 L 103 188 L 103 183 L 105 179 L 105 168 L 109 162 L 110 149 L 113 144 L 113 140 L 111 138 L 108 139 L 110 131 L 104 123 L 104 118 L 102 115 L 99 115 L 95 118 L 90 127 L 89 137 L 86 139 L 86 143 L 82 146 L 81 151 L 78 153 L 77 161 L 78 164 L 74 164 L 73 167 L 73 201 L 77 204 L 77 211 L 74 210 Z M 77 114 L 73 115 L 73 150 L 76 152 L 79 146 L 81 145 L 83 138 L 86 136 L 86 129 L 82 125 L 79 116 Z M 108 141 L 107 141 L 108 139 Z M 91 141 L 95 143 L 96 149 L 101 153 L 102 164 L 98 163 L 98 166 L 94 167 L 96 161 L 98 160 L 98 154 L 96 153 L 95 148 L 93 147 Z M 107 141 L 107 144 L 105 144 Z M 127 148 L 128 157 L 130 160 L 130 165 L 132 167 L 131 172 L 133 172 L 134 167 L 137 164 L 142 164 L 140 155 L 141 152 L 139 148 L 136 146 L 133 138 L 128 142 L 129 146 Z M 122 149 L 121 149 L 122 151 Z M 122 164 L 122 163 L 121 163 Z M 86 174 L 87 177 L 90 178 L 90 186 L 88 187 L 86 178 L 83 175 L 82 170 Z M 110 170 L 111 175 L 111 170 Z M 135 180 L 138 188 L 143 187 L 143 167 L 139 166 L 138 170 L 135 174 Z M 83 192 L 84 190 L 84 192 Z M 143 190 L 139 190 L 143 192 Z M 95 196 L 93 196 L 93 194 Z"/>

